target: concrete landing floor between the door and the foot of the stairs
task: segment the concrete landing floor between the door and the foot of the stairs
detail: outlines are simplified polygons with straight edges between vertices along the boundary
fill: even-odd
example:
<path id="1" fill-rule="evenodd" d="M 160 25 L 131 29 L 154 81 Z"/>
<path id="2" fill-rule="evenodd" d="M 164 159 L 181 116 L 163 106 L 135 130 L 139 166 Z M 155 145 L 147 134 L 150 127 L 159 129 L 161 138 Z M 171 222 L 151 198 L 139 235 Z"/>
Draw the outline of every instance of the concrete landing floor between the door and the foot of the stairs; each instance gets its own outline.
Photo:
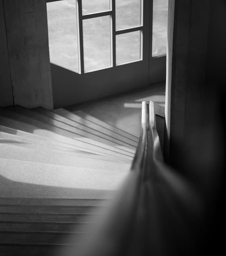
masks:
<path id="1" fill-rule="evenodd" d="M 67 109 L 71 112 L 83 110 L 97 119 L 139 137 L 141 102 L 152 100 L 164 106 L 165 86 L 165 82 L 156 83 L 139 90 L 73 105 Z"/>

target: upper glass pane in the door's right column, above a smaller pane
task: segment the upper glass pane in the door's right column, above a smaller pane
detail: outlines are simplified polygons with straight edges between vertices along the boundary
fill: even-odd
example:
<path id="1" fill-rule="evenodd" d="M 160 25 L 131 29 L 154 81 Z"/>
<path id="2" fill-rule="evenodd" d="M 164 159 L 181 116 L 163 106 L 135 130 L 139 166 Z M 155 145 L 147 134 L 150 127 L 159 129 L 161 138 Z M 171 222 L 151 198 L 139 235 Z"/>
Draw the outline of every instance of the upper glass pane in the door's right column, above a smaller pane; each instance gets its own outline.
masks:
<path id="1" fill-rule="evenodd" d="M 143 0 L 116 0 L 116 30 L 142 25 Z"/>

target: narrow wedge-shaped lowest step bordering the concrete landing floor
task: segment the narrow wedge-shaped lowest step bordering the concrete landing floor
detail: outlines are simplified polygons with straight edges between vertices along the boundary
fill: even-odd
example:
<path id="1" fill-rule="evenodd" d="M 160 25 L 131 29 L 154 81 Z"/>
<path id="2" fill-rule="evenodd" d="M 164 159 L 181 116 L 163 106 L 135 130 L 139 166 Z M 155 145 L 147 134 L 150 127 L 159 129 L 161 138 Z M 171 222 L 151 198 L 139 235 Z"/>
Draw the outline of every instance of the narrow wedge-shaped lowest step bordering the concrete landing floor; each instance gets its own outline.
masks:
<path id="1" fill-rule="evenodd" d="M 113 125 L 105 123 L 105 122 L 101 121 L 100 119 L 97 119 L 97 118 L 95 118 L 95 117 L 93 117 L 93 116 L 91 116 L 91 115 L 89 115 L 89 114 L 87 114 L 87 113 L 85 113 L 85 112 L 83 112 L 81 110 L 73 111 L 73 113 L 76 114 L 77 116 L 83 118 L 83 119 L 86 119 L 86 120 L 88 120 L 88 121 L 90 121 L 92 123 L 95 123 L 96 125 L 100 125 L 100 126 L 106 128 L 106 129 L 108 129 L 108 130 L 110 130 L 110 131 L 112 131 L 114 133 L 117 133 L 117 134 L 119 134 L 121 136 L 124 136 L 124 137 L 126 137 L 128 139 L 131 139 L 131 140 L 133 140 L 133 141 L 135 141 L 137 143 L 139 142 L 139 138 L 138 137 L 136 137 L 136 136 L 134 136 L 134 135 L 132 135 L 130 133 L 127 133 L 126 131 L 123 131 L 123 130 L 117 128 L 117 127 L 114 127 Z"/>

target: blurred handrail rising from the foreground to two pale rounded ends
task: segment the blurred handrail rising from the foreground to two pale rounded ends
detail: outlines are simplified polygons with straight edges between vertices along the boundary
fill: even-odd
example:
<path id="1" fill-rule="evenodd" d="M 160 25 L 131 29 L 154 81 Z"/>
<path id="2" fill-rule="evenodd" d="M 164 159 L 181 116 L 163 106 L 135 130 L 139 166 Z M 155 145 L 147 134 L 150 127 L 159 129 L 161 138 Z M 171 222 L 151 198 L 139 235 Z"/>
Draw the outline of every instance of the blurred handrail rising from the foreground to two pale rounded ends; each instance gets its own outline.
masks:
<path id="1" fill-rule="evenodd" d="M 129 177 L 83 256 L 193 255 L 200 200 L 164 161 L 153 102 L 142 102 L 141 135 Z M 87 247 L 87 242 L 85 242 Z"/>

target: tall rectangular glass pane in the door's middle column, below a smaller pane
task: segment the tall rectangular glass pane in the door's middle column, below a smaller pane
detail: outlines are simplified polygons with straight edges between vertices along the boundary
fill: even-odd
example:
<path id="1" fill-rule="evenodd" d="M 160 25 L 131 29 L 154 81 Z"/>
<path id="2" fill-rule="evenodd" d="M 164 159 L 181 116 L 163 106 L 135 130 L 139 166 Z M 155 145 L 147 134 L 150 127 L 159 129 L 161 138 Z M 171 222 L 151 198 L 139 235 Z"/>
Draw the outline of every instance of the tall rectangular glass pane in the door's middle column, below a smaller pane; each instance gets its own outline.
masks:
<path id="1" fill-rule="evenodd" d="M 85 72 L 111 67 L 110 16 L 83 20 Z"/>

